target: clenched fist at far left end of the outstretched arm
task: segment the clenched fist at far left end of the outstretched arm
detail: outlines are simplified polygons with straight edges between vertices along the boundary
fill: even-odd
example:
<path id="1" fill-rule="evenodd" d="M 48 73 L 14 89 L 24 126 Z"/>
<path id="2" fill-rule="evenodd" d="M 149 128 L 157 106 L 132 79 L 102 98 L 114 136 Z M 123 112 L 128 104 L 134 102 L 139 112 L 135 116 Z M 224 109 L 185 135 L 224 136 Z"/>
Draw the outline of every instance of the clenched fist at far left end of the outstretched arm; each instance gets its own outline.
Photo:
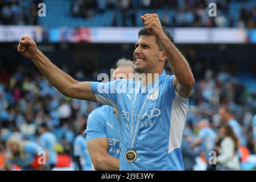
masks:
<path id="1" fill-rule="evenodd" d="M 31 59 L 38 53 L 38 48 L 36 47 L 36 43 L 28 36 L 23 36 L 18 45 L 18 52 Z"/>

